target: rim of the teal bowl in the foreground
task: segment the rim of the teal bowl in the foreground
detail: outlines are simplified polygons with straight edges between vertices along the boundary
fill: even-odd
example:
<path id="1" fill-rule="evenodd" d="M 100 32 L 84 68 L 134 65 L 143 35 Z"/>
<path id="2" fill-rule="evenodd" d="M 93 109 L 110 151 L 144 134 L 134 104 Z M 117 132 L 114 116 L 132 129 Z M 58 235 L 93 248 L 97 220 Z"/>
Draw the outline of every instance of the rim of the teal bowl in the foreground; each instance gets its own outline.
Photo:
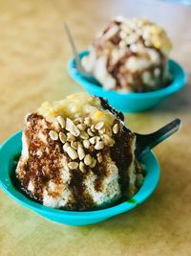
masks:
<path id="1" fill-rule="evenodd" d="M 14 133 L 11 137 L 9 137 L 1 146 L 0 146 L 0 161 L 3 162 L 5 161 L 7 156 L 7 153 L 11 153 L 11 146 L 14 145 L 17 148 L 21 148 L 21 136 L 22 136 L 22 131 L 18 131 Z M 20 145 L 18 145 L 20 144 Z M 15 150 L 14 150 L 15 151 Z M 20 149 L 21 151 L 21 149 Z M 15 154 L 18 153 L 14 152 Z M 5 154 L 5 155 L 4 155 Z M 15 155 L 14 154 L 14 155 Z M 13 154 L 11 155 L 13 157 Z M 77 211 L 66 211 L 66 210 L 60 210 L 60 209 L 54 209 L 51 207 L 44 206 L 40 203 L 37 203 L 33 201 L 30 198 L 27 198 L 24 194 L 20 193 L 16 188 L 12 185 L 11 183 L 11 178 L 9 178 L 9 170 L 5 170 L 4 167 L 1 166 L 0 169 L 0 188 L 2 188 L 11 198 L 19 202 L 20 204 L 24 205 L 27 208 L 32 209 L 34 212 L 37 212 L 41 215 L 44 216 L 53 216 L 57 218 L 64 218 L 65 220 L 92 220 L 92 219 L 100 219 L 100 218 L 110 218 L 115 215 L 124 213 L 126 211 L 129 211 L 141 202 L 143 202 L 146 198 L 149 198 L 151 194 L 154 192 L 156 189 L 158 183 L 159 183 L 159 175 L 160 175 L 160 170 L 159 170 L 159 162 L 157 157 L 152 151 L 149 151 L 144 155 L 144 157 L 148 157 L 151 161 L 153 161 L 153 164 L 155 164 L 155 174 L 154 171 L 152 171 L 152 175 L 154 179 L 152 180 L 152 186 L 149 188 L 147 193 L 144 193 L 144 197 L 141 197 L 141 190 L 145 189 L 145 183 L 146 180 L 151 178 L 148 174 L 151 172 L 149 171 L 148 174 L 144 177 L 144 182 L 141 188 L 138 190 L 138 193 L 133 197 L 136 202 L 132 201 L 124 201 L 121 203 L 118 203 L 115 206 L 108 207 L 106 209 L 100 209 L 100 210 L 95 210 L 95 211 L 85 211 L 85 212 L 77 212 Z M 3 170 L 3 171 L 2 171 Z M 3 177 L 3 172 L 7 172 L 6 175 L 7 177 Z"/>

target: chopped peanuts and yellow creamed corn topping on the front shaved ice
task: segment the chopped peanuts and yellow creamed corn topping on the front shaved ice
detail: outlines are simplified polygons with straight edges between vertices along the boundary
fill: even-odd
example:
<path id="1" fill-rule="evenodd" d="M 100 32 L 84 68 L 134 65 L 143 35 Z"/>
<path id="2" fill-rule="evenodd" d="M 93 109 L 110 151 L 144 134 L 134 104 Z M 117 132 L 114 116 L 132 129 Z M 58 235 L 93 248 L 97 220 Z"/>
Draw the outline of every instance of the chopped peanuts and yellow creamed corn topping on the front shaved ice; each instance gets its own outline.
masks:
<path id="1" fill-rule="evenodd" d="M 117 126 L 113 125 L 115 116 L 102 108 L 100 100 L 93 98 L 92 103 L 89 96 L 84 97 L 87 99 L 83 103 L 81 98 L 76 98 L 78 100 L 74 102 L 74 99 L 72 101 L 69 97 L 71 101 L 68 98 L 68 102 L 62 101 L 60 105 L 55 103 L 51 109 L 49 108 L 49 111 L 54 111 L 54 118 L 60 128 L 58 132 L 51 130 L 50 137 L 53 140 L 59 138 L 63 144 L 63 151 L 71 158 L 71 162 L 68 163 L 69 169 L 78 168 L 82 173 L 88 171 L 86 166 L 95 168 L 96 163 L 102 161 L 102 154 L 96 152 L 101 151 L 105 146 L 111 147 L 114 144 L 111 138 L 112 130 L 114 133 L 117 132 Z M 46 113 L 46 109 L 40 111 Z M 96 154 L 96 158 L 90 153 Z"/>

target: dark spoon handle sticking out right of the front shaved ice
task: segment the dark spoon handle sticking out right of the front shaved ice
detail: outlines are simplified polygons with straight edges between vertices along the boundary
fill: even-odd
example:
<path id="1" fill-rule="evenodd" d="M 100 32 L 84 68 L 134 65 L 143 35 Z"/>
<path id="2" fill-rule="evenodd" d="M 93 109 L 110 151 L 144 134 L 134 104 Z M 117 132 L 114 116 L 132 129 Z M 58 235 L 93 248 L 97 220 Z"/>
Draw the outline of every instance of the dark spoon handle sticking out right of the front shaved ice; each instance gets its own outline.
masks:
<path id="1" fill-rule="evenodd" d="M 160 142 L 167 139 L 173 133 L 180 129 L 181 121 L 179 118 L 175 119 L 171 123 L 167 124 L 163 128 L 150 133 L 150 134 L 138 134 L 136 142 L 136 155 L 140 157 L 143 153 L 150 151 L 156 147 Z"/>

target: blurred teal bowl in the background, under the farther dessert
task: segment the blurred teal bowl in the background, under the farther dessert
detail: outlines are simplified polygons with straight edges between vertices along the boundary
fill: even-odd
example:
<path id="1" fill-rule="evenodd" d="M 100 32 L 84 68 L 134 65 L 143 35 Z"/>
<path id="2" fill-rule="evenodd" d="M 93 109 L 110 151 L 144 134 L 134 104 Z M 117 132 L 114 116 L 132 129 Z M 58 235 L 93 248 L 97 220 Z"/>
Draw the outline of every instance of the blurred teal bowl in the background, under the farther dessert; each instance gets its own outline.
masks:
<path id="1" fill-rule="evenodd" d="M 88 51 L 84 51 L 79 54 L 79 58 L 83 58 L 88 54 Z M 168 61 L 173 81 L 167 87 L 153 92 L 124 93 L 114 90 L 105 90 L 94 81 L 88 81 L 80 75 L 76 69 L 74 58 L 69 61 L 68 72 L 71 78 L 80 84 L 89 94 L 107 99 L 110 105 L 113 105 L 121 112 L 135 113 L 159 105 L 162 100 L 178 92 L 184 86 L 186 82 L 186 74 L 184 70 L 176 61 L 172 59 L 169 59 Z"/>

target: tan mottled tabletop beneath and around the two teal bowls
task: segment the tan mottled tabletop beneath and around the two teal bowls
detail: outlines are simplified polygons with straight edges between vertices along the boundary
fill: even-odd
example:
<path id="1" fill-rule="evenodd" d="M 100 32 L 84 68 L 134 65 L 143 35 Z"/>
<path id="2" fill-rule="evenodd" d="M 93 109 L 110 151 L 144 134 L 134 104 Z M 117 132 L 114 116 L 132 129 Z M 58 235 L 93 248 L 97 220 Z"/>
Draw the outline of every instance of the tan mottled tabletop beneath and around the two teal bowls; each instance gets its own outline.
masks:
<path id="1" fill-rule="evenodd" d="M 71 49 L 86 48 L 110 17 L 141 15 L 166 28 L 171 57 L 191 70 L 191 9 L 158 1 L 0 0 L 0 143 L 21 129 L 24 115 L 44 101 L 81 88 L 66 71 Z M 157 108 L 126 115 L 130 128 L 150 132 L 180 117 L 183 126 L 155 152 L 161 167 L 157 191 L 126 214 L 85 227 L 46 221 L 0 191 L 0 255 L 191 255 L 191 87 Z M 1 165 L 1 163 L 0 163 Z"/>

